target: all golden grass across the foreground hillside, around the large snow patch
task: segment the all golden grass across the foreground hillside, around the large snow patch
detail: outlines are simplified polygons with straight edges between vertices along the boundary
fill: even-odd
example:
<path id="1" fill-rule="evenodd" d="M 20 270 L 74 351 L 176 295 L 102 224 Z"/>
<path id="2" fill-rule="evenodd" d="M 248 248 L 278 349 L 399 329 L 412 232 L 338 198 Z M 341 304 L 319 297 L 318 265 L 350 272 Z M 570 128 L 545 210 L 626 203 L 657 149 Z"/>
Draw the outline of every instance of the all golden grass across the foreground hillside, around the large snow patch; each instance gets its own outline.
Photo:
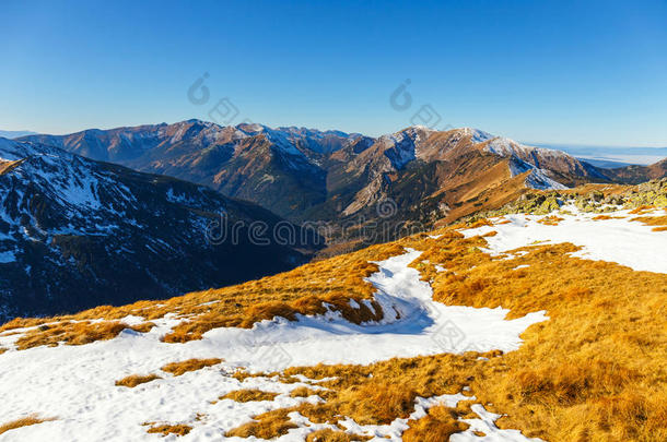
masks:
<path id="1" fill-rule="evenodd" d="M 536 226 L 540 231 L 553 229 L 554 236 L 565 235 L 569 226 L 575 225 L 593 226 L 593 232 L 613 228 L 644 238 L 650 236 L 657 246 L 667 236 L 662 228 L 667 226 L 667 212 L 660 189 L 656 192 L 654 188 L 648 191 L 596 188 L 601 198 L 587 189 L 584 194 L 590 198 L 582 199 L 592 210 L 585 210 L 586 205 L 577 203 L 576 195 L 574 200 L 567 196 L 567 192 L 537 193 L 541 200 L 539 207 L 550 204 L 547 202 L 550 198 L 555 205 L 537 211 L 506 208 L 504 216 L 419 234 L 220 290 L 119 308 L 101 307 L 70 316 L 14 320 L 0 327 L 0 345 L 9 348 L 0 356 L 0 365 L 8 356 L 30 355 L 44 345 L 56 347 L 48 351 L 58 351 L 67 344 L 113 339 L 130 325 L 136 333 L 150 334 L 153 323 L 165 315 L 173 322 L 160 337 L 162 345 L 172 346 L 207 342 L 207 332 L 248 328 L 276 316 L 294 321 L 300 318 L 297 314 L 338 311 L 356 324 L 379 321 L 382 310 L 374 300 L 374 287 L 365 278 L 378 270 L 373 262 L 411 248 L 422 254 L 410 266 L 430 283 L 436 301 L 475 308 L 503 307 L 511 310 L 508 319 L 546 310 L 549 320 L 529 326 L 522 335 L 520 348 L 506 354 L 469 348 L 463 354 L 394 358 L 371 365 L 290 367 L 276 373 L 251 373 L 238 368 L 229 375 L 244 382 L 243 385 L 271 375 L 277 375 L 281 384 L 316 380 L 290 394 L 318 399 L 283 402 L 286 406 L 282 407 L 279 402 L 270 403 L 273 405 L 268 411 L 257 413 L 254 420 L 226 428 L 225 437 L 277 438 L 303 428 L 300 419 L 306 418 L 313 425 L 307 441 L 365 440 L 370 435 L 355 434 L 346 425 L 348 418 L 359 426 L 389 425 L 396 419 L 408 419 L 420 398 L 464 393 L 467 399 L 455 406 L 438 404 L 428 408 L 423 416 L 409 419 L 407 429 L 397 438 L 449 440 L 449 435 L 469 429 L 467 420 L 479 409 L 476 406 L 482 405 L 503 415 L 495 421 L 498 427 L 518 429 L 530 438 L 664 441 L 667 440 L 667 274 L 584 259 L 580 256 L 582 248 L 569 241 L 536 241 L 501 253 L 490 252 L 494 241 L 503 240 L 510 231 L 520 228 L 531 231 Z M 612 195 L 623 192 L 635 193 L 628 193 L 633 195 L 632 200 L 627 198 L 617 203 L 635 205 L 633 210 L 619 211 L 618 204 L 612 206 Z M 582 213 L 573 214 L 578 205 L 584 207 Z M 516 214 L 522 212 L 528 214 Z M 618 237 L 619 248 L 628 238 L 632 236 Z M 664 250 L 648 248 L 646 255 L 665 260 Z M 124 323 L 128 318 L 133 318 L 132 324 Z M 159 369 L 154 367 L 153 371 L 159 373 Z M 166 381 L 145 381 L 145 385 Z M 118 386 L 121 387 L 126 386 Z M 225 401 L 262 396 L 251 391 L 236 393 Z M 192 428 L 196 430 L 206 421 L 200 416 L 201 409 L 190 411 L 198 418 L 152 428 L 168 433 L 173 427 L 178 429 L 174 433 L 187 438 Z M 316 429 L 318 425 L 326 428 Z M 184 431 L 184 426 L 189 429 Z"/>

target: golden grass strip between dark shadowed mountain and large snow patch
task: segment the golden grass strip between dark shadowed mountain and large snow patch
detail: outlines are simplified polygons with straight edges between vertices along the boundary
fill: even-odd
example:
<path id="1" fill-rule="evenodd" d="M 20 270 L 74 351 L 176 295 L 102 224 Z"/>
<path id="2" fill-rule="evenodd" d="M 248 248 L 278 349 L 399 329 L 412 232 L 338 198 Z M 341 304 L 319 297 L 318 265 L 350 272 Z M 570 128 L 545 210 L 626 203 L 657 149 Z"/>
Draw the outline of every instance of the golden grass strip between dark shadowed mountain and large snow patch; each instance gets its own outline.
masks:
<path id="1" fill-rule="evenodd" d="M 379 320 L 382 311 L 377 309 L 376 303 L 368 308 L 360 302 L 360 309 L 352 309 L 349 303 L 351 299 L 358 302 L 372 299 L 373 286 L 364 282 L 364 277 L 376 272 L 377 265 L 368 261 L 384 260 L 401 252 L 402 248 L 397 243 L 375 246 L 238 286 L 191 292 L 168 300 L 138 301 L 121 307 L 101 306 L 63 316 L 17 318 L 0 326 L 0 333 L 33 327 L 20 339 L 19 349 L 56 345 L 63 341 L 56 335 L 71 336 L 66 344 L 87 343 L 95 341 L 95 334 L 89 333 L 92 330 L 82 332 L 80 328 L 93 328 L 93 324 L 89 327 L 77 324 L 103 319 L 105 322 L 96 322 L 95 327 L 115 331 L 117 335 L 122 330 L 118 330 L 118 320 L 128 314 L 152 321 L 163 318 L 166 313 L 175 313 L 187 316 L 188 321 L 175 326 L 172 333 L 164 336 L 164 342 L 184 343 L 200 339 L 203 333 L 221 326 L 251 327 L 258 321 L 276 316 L 294 319 L 297 313 L 324 313 L 325 302 L 355 323 Z M 145 332 L 151 326 L 152 323 L 147 322 L 131 328 Z M 74 338 L 77 335 L 83 336 Z M 113 333 L 97 336 L 115 337 Z"/>

